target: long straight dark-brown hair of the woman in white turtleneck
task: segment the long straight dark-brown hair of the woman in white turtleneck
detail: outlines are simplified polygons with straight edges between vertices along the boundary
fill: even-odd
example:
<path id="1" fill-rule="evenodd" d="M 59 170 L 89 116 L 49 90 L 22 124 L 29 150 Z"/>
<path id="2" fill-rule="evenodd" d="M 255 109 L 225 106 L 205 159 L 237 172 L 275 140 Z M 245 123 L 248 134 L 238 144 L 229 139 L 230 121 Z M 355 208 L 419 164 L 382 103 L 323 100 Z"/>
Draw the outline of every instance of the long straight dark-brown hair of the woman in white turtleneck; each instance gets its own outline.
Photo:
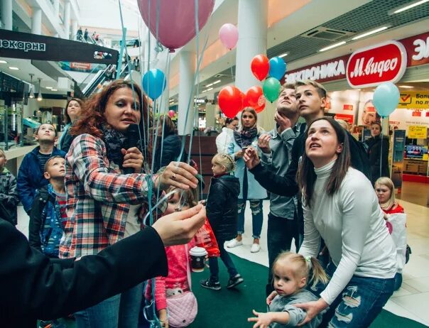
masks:
<path id="1" fill-rule="evenodd" d="M 319 119 L 315 119 L 310 126 L 308 126 L 307 131 L 305 131 L 305 140 L 308 138 L 308 131 L 310 127 L 316 122 L 325 120 L 327 121 L 335 131 L 337 135 L 338 143 L 342 143 L 342 151 L 338 154 L 337 160 L 335 160 L 335 164 L 332 167 L 332 172 L 330 174 L 329 180 L 326 184 L 326 192 L 327 195 L 333 195 L 340 189 L 340 185 L 342 180 L 344 179 L 347 170 L 349 170 L 350 166 L 350 150 L 349 150 L 349 137 L 347 136 L 347 132 L 340 126 L 340 124 L 330 117 L 320 117 Z M 298 173 L 296 180 L 298 181 L 298 185 L 300 186 L 301 192 L 303 193 L 303 197 L 305 200 L 305 204 L 308 207 L 311 207 L 310 203 L 313 197 L 314 185 L 316 182 L 316 174 L 314 170 L 313 162 L 310 158 L 307 157 L 307 154 L 303 153 L 303 158 L 299 165 Z"/>

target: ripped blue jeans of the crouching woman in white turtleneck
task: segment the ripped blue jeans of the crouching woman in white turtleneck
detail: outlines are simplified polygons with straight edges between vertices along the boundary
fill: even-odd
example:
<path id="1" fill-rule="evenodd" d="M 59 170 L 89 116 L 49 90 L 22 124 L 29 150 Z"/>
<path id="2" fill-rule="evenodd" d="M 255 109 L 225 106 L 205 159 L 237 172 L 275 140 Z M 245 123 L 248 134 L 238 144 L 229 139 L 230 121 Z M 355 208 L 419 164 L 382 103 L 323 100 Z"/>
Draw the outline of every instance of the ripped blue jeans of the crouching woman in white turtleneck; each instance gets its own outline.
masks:
<path id="1" fill-rule="evenodd" d="M 332 277 L 336 269 L 330 262 L 326 273 Z M 353 275 L 342 293 L 323 315 L 323 321 L 319 327 L 369 327 L 393 294 L 394 283 L 394 278 Z"/>

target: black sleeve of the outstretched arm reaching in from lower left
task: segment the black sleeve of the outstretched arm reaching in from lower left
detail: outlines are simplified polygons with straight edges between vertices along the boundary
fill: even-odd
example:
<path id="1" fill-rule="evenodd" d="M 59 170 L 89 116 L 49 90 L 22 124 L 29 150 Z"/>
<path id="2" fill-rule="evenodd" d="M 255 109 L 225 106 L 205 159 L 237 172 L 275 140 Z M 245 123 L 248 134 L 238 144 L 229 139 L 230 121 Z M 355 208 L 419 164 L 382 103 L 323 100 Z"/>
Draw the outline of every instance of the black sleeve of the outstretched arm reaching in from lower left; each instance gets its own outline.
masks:
<path id="1" fill-rule="evenodd" d="M 126 256 L 125 256 L 126 255 Z M 50 260 L 0 219 L 1 327 L 36 327 L 168 273 L 161 238 L 148 227 L 94 256 Z"/>

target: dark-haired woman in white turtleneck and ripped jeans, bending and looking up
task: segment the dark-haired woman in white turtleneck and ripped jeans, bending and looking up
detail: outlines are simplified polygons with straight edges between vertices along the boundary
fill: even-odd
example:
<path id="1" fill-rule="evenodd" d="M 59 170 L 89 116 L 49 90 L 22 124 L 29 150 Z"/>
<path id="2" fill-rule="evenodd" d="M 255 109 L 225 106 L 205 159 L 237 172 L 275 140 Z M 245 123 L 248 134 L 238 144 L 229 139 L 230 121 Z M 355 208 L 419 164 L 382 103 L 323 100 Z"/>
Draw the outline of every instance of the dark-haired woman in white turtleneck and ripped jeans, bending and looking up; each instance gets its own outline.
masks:
<path id="1" fill-rule="evenodd" d="M 344 129 L 334 119 L 321 118 L 307 133 L 298 172 L 305 218 L 299 253 L 317 256 L 324 239 L 331 278 L 319 300 L 300 305 L 307 311 L 303 323 L 329 306 L 325 324 L 369 327 L 393 293 L 395 246 L 371 182 L 350 167 Z"/>

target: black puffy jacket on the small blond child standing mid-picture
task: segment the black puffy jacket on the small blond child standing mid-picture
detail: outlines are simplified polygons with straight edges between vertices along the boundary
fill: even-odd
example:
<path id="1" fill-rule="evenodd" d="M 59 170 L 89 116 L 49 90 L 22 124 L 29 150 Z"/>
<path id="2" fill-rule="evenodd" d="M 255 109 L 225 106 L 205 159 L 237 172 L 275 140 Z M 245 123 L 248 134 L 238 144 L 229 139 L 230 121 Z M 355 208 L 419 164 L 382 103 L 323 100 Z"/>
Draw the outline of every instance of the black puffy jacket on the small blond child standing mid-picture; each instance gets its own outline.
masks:
<path id="1" fill-rule="evenodd" d="M 240 181 L 232 175 L 212 177 L 207 198 L 207 218 L 219 241 L 237 236 Z"/>

